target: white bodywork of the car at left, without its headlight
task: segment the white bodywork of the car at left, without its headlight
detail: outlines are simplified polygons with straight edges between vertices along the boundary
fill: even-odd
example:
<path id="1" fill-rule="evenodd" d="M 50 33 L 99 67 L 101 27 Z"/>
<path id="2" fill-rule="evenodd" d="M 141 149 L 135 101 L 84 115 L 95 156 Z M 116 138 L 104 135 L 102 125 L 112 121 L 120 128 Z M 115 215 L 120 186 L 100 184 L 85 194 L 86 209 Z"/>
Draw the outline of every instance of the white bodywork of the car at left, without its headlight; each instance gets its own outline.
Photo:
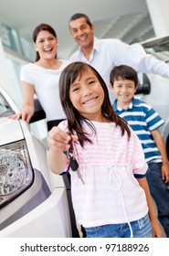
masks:
<path id="1" fill-rule="evenodd" d="M 0 150 L 25 141 L 33 173 L 30 186 L 1 205 L 0 237 L 72 237 L 67 189 L 63 177 L 49 171 L 47 150 L 32 133 L 31 126 L 25 121 L 7 117 L 10 111 L 18 112 L 18 108 L 1 87 L 0 97 L 4 97 L 0 100 L 1 105 L 5 102 L 5 111 L 3 113 L 1 108 L 0 117 Z M 3 162 L 0 163 L 0 175 L 4 175 Z M 0 193 L 2 201 L 1 190 Z"/>

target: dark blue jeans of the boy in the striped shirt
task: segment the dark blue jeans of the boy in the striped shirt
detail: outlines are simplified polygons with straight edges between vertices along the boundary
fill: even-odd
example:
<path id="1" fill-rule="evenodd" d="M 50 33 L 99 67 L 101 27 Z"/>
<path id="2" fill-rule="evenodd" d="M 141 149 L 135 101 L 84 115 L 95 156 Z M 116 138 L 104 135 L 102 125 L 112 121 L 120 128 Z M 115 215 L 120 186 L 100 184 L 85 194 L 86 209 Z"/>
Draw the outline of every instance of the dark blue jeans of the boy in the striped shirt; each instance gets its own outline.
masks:
<path id="1" fill-rule="evenodd" d="M 146 178 L 151 195 L 158 210 L 158 219 L 164 227 L 166 237 L 169 238 L 169 191 L 161 175 L 161 163 L 150 163 Z"/>

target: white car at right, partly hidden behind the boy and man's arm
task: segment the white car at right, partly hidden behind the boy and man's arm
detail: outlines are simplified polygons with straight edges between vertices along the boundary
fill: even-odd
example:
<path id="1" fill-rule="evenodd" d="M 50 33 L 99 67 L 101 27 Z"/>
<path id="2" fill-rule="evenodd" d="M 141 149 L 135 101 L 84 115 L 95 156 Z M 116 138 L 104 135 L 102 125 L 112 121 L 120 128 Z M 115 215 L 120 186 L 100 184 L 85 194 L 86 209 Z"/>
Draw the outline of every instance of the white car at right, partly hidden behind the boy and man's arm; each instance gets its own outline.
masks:
<path id="1" fill-rule="evenodd" d="M 153 38 L 141 43 L 146 53 L 169 65 L 169 37 Z M 150 104 L 164 119 L 160 128 L 169 158 L 169 80 L 154 74 L 139 74 L 142 86 L 136 97 Z"/>

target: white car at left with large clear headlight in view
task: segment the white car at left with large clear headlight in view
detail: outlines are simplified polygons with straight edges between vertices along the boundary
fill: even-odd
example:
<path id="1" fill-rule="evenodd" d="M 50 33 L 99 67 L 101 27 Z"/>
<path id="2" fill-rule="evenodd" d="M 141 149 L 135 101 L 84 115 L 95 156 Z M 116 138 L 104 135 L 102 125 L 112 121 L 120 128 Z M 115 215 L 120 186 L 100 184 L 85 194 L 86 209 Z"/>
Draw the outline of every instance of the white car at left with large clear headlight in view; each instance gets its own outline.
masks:
<path id="1" fill-rule="evenodd" d="M 16 104 L 0 87 L 0 237 L 72 237 L 68 191 L 48 170 L 30 125 L 8 118 Z"/>

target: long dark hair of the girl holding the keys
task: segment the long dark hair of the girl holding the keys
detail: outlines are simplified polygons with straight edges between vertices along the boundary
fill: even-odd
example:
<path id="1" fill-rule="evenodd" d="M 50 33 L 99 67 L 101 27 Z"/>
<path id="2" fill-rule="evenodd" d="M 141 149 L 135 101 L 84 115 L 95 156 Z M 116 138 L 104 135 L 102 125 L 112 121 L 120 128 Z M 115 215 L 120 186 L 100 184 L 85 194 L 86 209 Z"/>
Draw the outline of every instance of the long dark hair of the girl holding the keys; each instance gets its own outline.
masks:
<path id="1" fill-rule="evenodd" d="M 69 132 L 73 133 L 74 131 L 76 131 L 79 137 L 79 144 L 81 144 L 82 146 L 84 141 L 92 143 L 88 136 L 89 134 L 83 131 L 82 121 L 87 123 L 90 126 L 91 131 L 95 133 L 94 126 L 92 125 L 92 123 L 90 123 L 89 120 L 86 120 L 83 116 L 79 114 L 79 112 L 74 108 L 69 99 L 70 85 L 78 78 L 79 75 L 81 76 L 82 73 L 87 69 L 90 69 L 93 72 L 93 74 L 97 77 L 97 79 L 100 82 L 100 86 L 104 91 L 104 101 L 101 106 L 102 115 L 108 121 L 116 123 L 116 125 L 119 125 L 121 127 L 122 135 L 126 131 L 130 137 L 131 132 L 126 121 L 121 119 L 121 117 L 118 116 L 116 112 L 114 112 L 112 109 L 108 88 L 104 80 L 102 80 L 100 74 L 96 69 L 92 68 L 89 64 L 80 61 L 70 63 L 65 69 L 63 69 L 59 78 L 59 96 L 63 110 L 68 119 Z"/>

